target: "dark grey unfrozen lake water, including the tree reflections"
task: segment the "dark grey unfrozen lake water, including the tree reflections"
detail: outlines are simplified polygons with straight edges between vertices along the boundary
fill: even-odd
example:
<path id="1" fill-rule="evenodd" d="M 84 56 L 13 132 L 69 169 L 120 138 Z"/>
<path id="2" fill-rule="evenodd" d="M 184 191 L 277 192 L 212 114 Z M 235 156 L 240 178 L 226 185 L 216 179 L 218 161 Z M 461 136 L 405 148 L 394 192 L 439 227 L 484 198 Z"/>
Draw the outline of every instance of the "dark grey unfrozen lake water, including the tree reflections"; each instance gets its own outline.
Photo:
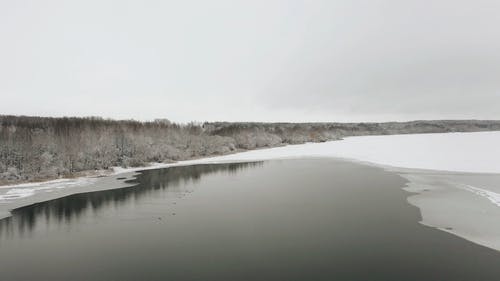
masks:
<path id="1" fill-rule="evenodd" d="M 420 225 L 404 184 L 337 160 L 144 171 L 14 210 L 0 280 L 500 280 L 500 253 Z"/>

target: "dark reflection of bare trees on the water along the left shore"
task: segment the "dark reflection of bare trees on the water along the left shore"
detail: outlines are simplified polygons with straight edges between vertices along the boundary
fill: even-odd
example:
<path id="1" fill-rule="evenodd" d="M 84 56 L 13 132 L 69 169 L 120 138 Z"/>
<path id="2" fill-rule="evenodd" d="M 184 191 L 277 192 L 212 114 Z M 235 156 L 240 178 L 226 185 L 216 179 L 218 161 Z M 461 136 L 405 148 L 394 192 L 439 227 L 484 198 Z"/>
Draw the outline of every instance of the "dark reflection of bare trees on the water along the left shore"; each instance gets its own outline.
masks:
<path id="1" fill-rule="evenodd" d="M 178 166 L 166 169 L 142 171 L 134 180 L 133 186 L 73 194 L 59 199 L 36 203 L 14 209 L 12 216 L 0 220 L 0 234 L 11 236 L 31 232 L 37 222 L 45 221 L 70 223 L 88 211 L 97 212 L 104 207 L 120 206 L 126 202 L 135 201 L 144 196 L 151 196 L 158 191 L 183 194 L 185 183 L 200 181 L 202 176 L 214 173 L 235 174 L 242 169 L 262 166 L 262 162 L 204 164 L 193 166 Z"/>

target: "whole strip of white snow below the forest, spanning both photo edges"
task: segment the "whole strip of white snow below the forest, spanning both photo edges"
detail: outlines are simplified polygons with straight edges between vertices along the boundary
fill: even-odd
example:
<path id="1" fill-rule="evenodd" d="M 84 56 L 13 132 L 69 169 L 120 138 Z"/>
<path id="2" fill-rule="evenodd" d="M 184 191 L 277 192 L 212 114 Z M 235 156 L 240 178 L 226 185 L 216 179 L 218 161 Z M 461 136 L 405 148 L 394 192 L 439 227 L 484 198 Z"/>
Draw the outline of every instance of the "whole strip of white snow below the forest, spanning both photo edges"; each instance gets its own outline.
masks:
<path id="1" fill-rule="evenodd" d="M 340 141 L 287 145 L 175 163 L 154 163 L 145 167 L 114 167 L 113 172 L 105 177 L 173 166 L 311 157 L 341 158 L 396 170 L 497 174 L 500 173 L 498 143 L 500 132 L 496 131 L 347 137 Z M 0 186 L 0 204 L 41 192 L 92 185 L 101 179 L 102 177 L 78 177 Z"/>

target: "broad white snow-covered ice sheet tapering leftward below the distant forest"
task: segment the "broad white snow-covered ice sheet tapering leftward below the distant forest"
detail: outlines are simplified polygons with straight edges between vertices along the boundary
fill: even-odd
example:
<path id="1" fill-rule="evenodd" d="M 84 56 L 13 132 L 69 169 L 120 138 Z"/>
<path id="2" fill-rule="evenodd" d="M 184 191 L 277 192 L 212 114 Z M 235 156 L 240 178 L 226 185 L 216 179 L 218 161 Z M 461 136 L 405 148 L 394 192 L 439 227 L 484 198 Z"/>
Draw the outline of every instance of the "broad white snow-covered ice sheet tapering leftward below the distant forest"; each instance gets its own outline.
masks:
<path id="1" fill-rule="evenodd" d="M 348 137 L 342 141 L 253 150 L 194 162 L 300 157 L 338 157 L 400 168 L 500 173 L 500 132 Z"/>

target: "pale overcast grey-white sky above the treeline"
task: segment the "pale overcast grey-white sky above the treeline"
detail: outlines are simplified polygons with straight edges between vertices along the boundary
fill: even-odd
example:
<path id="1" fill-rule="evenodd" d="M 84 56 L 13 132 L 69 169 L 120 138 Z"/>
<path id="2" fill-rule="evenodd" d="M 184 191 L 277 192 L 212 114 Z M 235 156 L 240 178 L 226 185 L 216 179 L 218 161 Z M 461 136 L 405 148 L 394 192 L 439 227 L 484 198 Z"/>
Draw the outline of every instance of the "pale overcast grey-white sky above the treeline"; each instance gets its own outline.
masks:
<path id="1" fill-rule="evenodd" d="M 0 1 L 0 114 L 500 119 L 497 0 Z"/>

